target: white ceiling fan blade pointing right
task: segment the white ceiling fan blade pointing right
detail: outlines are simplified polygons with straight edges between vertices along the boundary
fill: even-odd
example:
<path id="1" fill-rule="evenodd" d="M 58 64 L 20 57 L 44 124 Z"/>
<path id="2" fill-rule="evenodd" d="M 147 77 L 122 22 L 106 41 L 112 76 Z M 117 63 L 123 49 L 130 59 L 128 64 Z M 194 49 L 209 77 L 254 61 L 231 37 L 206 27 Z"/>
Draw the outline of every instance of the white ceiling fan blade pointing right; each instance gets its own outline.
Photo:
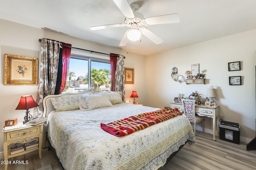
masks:
<path id="1" fill-rule="evenodd" d="M 145 18 L 148 25 L 164 24 L 164 23 L 179 23 L 180 16 L 178 14 L 168 14 L 164 16 L 156 16 Z"/>

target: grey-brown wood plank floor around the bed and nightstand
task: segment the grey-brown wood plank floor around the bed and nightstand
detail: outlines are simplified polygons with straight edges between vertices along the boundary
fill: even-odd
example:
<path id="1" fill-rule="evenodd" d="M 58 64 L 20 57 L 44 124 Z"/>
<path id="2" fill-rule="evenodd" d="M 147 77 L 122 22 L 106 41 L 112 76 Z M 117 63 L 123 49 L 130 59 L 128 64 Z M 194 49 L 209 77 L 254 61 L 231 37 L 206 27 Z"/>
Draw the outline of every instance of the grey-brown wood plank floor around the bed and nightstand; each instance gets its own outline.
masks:
<path id="1" fill-rule="evenodd" d="M 234 144 L 216 138 L 212 141 L 212 135 L 196 132 L 197 143 L 188 143 L 159 170 L 256 170 L 256 150 L 246 150 L 244 144 Z M 8 170 L 36 170 L 48 164 L 53 170 L 62 170 L 60 163 L 52 150 L 42 150 L 42 160 L 38 152 L 30 152 L 23 156 L 9 160 L 28 160 L 27 165 L 8 165 Z M 0 170 L 4 166 L 0 165 Z"/>

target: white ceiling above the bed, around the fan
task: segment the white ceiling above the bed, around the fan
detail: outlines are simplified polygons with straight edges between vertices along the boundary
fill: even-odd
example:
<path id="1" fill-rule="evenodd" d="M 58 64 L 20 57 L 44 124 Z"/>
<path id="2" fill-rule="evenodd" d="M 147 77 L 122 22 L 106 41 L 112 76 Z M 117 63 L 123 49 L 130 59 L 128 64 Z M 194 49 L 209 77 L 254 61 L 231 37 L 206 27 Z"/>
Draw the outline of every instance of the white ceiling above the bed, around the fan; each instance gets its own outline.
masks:
<path id="1" fill-rule="evenodd" d="M 90 30 L 91 26 L 124 22 L 124 15 L 112 0 L 2 0 L 0 18 L 142 55 L 256 29 L 256 0 L 128 2 L 139 4 L 138 12 L 145 18 L 177 13 L 180 23 L 146 26 L 163 39 L 164 42 L 159 45 L 142 35 L 141 42 L 129 41 L 128 45 L 120 47 L 119 43 L 128 27 Z"/>

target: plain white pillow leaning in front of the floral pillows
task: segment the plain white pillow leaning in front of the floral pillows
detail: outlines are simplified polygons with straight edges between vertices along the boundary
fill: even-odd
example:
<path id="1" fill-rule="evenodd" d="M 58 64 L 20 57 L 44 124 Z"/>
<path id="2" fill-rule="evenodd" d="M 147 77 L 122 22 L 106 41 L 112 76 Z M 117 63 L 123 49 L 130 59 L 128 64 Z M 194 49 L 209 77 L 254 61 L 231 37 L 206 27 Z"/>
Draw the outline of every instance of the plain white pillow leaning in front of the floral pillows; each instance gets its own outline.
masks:
<path id="1" fill-rule="evenodd" d="M 87 107 L 88 110 L 97 109 L 100 107 L 113 106 L 108 100 L 108 97 L 106 96 L 106 94 L 104 93 L 85 96 L 84 100 L 86 102 L 86 106 L 83 106 L 83 107 Z"/>

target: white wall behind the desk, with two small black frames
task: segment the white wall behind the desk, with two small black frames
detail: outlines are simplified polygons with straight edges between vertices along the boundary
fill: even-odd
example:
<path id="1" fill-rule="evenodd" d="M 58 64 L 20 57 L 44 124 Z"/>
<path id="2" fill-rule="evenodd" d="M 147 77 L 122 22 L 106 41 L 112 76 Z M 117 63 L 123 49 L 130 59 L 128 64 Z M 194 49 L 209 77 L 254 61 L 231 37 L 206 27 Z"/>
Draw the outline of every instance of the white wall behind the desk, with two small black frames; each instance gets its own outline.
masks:
<path id="1" fill-rule="evenodd" d="M 195 90 L 204 98 L 210 86 L 217 86 L 217 105 L 225 121 L 239 123 L 244 140 L 255 137 L 256 30 L 222 37 L 146 57 L 147 105 L 169 106 L 178 93 L 189 96 Z M 157 60 L 157 62 L 156 62 Z M 240 71 L 228 71 L 228 63 L 241 61 Z M 185 76 L 191 64 L 206 69 L 206 84 L 185 84 L 171 78 L 173 67 Z M 230 86 L 229 76 L 242 76 L 242 86 Z M 205 127 L 212 129 L 211 119 Z M 200 124 L 198 124 L 200 128 Z"/>

